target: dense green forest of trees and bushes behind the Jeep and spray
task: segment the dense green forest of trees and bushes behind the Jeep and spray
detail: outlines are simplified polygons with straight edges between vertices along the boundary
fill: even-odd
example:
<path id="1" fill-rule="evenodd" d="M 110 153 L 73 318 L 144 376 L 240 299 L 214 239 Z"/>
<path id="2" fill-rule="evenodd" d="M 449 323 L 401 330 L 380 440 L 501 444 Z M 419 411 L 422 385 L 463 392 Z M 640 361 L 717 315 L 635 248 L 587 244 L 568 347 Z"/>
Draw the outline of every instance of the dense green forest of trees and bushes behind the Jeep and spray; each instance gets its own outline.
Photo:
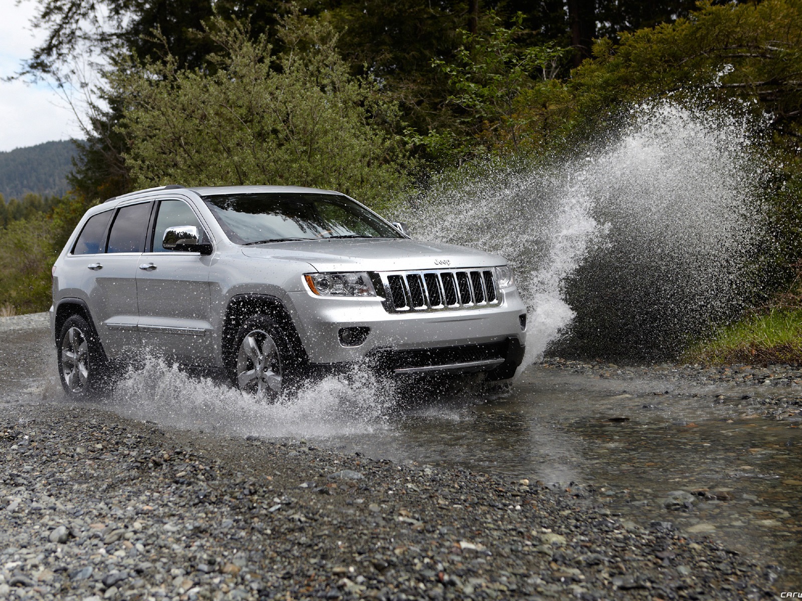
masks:
<path id="1" fill-rule="evenodd" d="M 483 166 L 573 159 L 667 99 L 759 124 L 772 244 L 738 311 L 654 357 L 802 357 L 802 0 L 38 0 L 33 25 L 18 77 L 85 91 L 86 131 L 67 193 L 0 215 L 6 314 L 47 309 L 55 253 L 110 196 L 300 184 L 393 213 Z M 572 353 L 597 356 L 595 336 Z"/>

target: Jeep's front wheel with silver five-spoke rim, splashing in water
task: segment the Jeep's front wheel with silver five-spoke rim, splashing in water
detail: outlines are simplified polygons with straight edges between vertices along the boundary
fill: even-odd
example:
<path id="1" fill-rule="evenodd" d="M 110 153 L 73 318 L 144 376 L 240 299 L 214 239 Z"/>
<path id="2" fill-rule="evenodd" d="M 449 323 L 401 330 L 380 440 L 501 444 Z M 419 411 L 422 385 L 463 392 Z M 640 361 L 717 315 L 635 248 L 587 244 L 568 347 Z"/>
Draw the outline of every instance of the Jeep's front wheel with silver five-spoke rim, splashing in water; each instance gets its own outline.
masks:
<path id="1" fill-rule="evenodd" d="M 236 344 L 234 385 L 261 400 L 276 401 L 297 375 L 294 354 L 282 328 L 266 315 L 255 315 L 240 328 Z"/>

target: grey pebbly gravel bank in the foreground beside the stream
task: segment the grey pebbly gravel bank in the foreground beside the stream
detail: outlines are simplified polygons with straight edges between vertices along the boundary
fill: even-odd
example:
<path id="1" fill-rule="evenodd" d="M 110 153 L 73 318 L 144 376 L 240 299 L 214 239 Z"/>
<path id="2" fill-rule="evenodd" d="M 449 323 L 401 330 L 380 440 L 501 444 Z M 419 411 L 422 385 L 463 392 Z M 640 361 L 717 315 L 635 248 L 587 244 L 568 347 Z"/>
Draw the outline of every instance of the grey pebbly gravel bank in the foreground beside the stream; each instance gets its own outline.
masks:
<path id="1" fill-rule="evenodd" d="M 2 599 L 764 599 L 758 566 L 553 490 L 4 405 Z"/>

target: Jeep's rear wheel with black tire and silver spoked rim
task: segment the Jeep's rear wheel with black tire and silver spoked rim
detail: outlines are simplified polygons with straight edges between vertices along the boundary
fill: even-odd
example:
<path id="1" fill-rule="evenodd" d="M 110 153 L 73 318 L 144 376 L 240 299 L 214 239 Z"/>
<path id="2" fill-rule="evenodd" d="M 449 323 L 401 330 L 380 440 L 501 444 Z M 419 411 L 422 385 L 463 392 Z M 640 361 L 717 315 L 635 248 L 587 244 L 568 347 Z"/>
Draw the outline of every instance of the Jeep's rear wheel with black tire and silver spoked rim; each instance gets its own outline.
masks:
<path id="1" fill-rule="evenodd" d="M 80 399 L 103 391 L 106 361 L 90 325 L 74 315 L 64 322 L 59 336 L 59 377 L 67 396 Z"/>

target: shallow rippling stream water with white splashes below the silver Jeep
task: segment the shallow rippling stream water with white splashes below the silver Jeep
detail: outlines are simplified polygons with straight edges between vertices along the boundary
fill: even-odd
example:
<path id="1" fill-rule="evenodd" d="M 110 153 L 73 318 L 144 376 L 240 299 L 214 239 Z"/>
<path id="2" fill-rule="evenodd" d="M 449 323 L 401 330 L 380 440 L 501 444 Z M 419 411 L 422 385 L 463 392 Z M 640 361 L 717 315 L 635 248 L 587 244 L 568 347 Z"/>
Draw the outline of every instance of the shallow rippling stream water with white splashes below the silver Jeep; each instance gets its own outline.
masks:
<path id="1" fill-rule="evenodd" d="M 46 332 L 0 333 L 0 341 L 18 349 L 3 357 L 0 405 L 69 402 Z M 622 519 L 673 522 L 682 530 L 708 524 L 702 527 L 709 532 L 689 536 L 719 538 L 763 566 L 782 565 L 780 591 L 802 584 L 802 428 L 799 420 L 757 417 L 759 407 L 742 399 L 755 390 L 648 377 L 615 381 L 540 365 L 496 393 L 418 393 L 413 403 L 409 390 L 356 373 L 265 405 L 153 363 L 97 406 L 178 430 L 306 438 L 373 458 L 593 485 Z M 663 506 L 670 492 L 703 488 L 726 490 L 727 500 Z"/>

